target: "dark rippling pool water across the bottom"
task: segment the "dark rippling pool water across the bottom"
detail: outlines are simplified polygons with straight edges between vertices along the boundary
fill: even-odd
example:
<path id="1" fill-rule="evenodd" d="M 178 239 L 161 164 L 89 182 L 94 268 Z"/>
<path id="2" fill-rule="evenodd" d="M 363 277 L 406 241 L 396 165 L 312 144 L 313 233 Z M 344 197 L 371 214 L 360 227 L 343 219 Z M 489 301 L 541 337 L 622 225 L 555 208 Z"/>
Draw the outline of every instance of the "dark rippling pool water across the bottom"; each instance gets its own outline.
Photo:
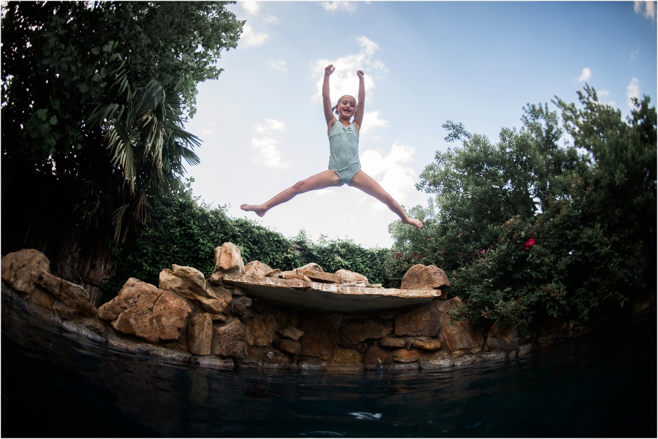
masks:
<path id="1" fill-rule="evenodd" d="M 3 321 L 2 437 L 656 437 L 655 310 L 520 360 L 419 373 L 217 371 Z M 10 340 L 20 340 L 21 344 Z M 26 344 L 27 346 L 23 346 Z"/>

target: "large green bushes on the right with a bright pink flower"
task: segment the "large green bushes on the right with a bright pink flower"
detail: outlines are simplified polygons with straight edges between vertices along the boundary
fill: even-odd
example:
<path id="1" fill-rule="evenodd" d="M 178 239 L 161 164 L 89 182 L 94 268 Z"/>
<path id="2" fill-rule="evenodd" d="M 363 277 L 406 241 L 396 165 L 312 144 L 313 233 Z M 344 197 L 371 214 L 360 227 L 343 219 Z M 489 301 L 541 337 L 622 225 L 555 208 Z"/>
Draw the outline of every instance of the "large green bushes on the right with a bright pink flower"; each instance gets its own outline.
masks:
<path id="1" fill-rule="evenodd" d="M 415 208 L 427 224 L 393 223 L 402 272 L 420 255 L 448 271 L 453 314 L 532 335 L 548 319 L 583 325 L 655 288 L 656 111 L 636 101 L 627 121 L 587 86 L 581 108 L 557 99 L 529 106 L 520 131 L 498 145 L 448 123 L 463 148 L 437 153 L 419 189 L 436 204 Z M 563 141 L 563 132 L 573 143 Z M 431 237 L 431 239 L 430 239 Z"/>

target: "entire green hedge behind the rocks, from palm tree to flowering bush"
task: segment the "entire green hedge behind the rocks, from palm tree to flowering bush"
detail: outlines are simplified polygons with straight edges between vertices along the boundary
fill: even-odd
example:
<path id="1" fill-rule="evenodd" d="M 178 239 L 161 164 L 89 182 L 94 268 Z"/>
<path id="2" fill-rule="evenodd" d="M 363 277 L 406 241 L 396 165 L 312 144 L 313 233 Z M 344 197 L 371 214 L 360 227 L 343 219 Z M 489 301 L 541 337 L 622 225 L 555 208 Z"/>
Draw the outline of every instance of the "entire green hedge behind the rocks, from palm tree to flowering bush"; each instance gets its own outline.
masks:
<path id="1" fill-rule="evenodd" d="M 311 242 L 304 231 L 293 239 L 254 221 L 226 216 L 224 208 L 199 203 L 190 192 L 153 201 L 151 216 L 136 240 L 114 247 L 112 278 L 103 300 L 114 297 L 129 277 L 158 285 L 158 275 L 172 264 L 191 266 L 208 276 L 215 272 L 215 249 L 232 242 L 245 263 L 259 260 L 282 271 L 308 262 L 334 273 L 340 268 L 365 275 L 371 284 L 387 284 L 389 249 L 364 249 L 352 240 Z"/>

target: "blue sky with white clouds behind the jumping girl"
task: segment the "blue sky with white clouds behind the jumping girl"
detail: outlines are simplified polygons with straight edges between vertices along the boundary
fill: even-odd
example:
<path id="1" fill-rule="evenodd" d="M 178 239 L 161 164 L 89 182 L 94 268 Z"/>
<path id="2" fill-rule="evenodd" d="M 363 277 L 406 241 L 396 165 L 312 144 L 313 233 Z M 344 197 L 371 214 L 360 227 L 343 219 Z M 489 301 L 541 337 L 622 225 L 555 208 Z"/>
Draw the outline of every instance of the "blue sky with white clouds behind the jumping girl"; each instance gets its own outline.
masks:
<path id="1" fill-rule="evenodd" d="M 362 170 L 404 208 L 426 206 L 415 188 L 446 121 L 498 141 L 520 128 L 524 106 L 559 97 L 577 103 L 592 86 L 624 116 L 631 97 L 656 102 L 656 2 L 633 1 L 239 1 L 246 21 L 223 52 L 219 79 L 199 84 L 186 131 L 202 140 L 188 167 L 193 194 L 233 218 L 291 238 L 351 239 L 389 248 L 398 216 L 349 186 L 297 195 L 263 218 L 240 205 L 265 203 L 328 168 L 321 103 L 356 96 L 365 72 Z M 412 226 L 407 226 L 412 227 Z"/>

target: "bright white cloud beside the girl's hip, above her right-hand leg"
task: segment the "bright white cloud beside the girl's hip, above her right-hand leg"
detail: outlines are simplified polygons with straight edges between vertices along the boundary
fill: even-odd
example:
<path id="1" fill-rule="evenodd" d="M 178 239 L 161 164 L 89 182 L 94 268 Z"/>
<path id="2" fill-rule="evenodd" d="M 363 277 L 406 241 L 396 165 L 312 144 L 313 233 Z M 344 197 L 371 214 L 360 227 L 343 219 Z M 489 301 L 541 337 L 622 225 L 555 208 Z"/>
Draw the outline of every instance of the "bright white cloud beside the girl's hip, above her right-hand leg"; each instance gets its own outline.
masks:
<path id="1" fill-rule="evenodd" d="M 415 149 L 400 142 L 393 143 L 391 151 L 383 155 L 380 151 L 368 149 L 360 155 L 361 168 L 367 175 L 376 179 L 382 188 L 400 204 L 415 191 L 416 172 L 409 164 L 413 161 Z M 387 206 L 376 199 L 371 200 L 371 210 L 381 212 Z"/>

